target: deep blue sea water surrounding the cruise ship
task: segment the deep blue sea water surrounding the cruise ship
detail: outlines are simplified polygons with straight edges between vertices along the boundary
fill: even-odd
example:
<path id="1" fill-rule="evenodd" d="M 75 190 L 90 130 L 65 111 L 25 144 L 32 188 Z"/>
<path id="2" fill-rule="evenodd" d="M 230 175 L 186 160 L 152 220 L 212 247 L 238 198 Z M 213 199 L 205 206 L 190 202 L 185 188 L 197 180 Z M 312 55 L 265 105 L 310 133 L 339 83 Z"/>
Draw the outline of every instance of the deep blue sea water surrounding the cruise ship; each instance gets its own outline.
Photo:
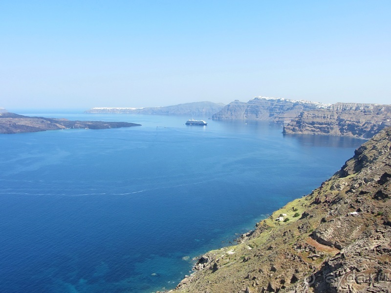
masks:
<path id="1" fill-rule="evenodd" d="M 193 257 L 318 187 L 363 142 L 250 121 L 25 114 L 143 126 L 0 135 L 1 293 L 174 288 Z"/>

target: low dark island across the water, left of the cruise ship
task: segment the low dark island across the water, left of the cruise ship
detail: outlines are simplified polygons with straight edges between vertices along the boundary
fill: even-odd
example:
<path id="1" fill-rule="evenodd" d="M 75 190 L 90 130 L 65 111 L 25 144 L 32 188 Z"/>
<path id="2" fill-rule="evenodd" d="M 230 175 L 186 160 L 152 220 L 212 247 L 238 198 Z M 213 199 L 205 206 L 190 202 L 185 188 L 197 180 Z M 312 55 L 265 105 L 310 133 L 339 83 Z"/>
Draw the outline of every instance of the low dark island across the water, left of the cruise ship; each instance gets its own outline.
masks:
<path id="1" fill-rule="evenodd" d="M 139 126 L 127 122 L 70 121 L 66 119 L 28 117 L 15 113 L 0 113 L 0 133 L 38 132 L 66 128 L 104 129 Z"/>

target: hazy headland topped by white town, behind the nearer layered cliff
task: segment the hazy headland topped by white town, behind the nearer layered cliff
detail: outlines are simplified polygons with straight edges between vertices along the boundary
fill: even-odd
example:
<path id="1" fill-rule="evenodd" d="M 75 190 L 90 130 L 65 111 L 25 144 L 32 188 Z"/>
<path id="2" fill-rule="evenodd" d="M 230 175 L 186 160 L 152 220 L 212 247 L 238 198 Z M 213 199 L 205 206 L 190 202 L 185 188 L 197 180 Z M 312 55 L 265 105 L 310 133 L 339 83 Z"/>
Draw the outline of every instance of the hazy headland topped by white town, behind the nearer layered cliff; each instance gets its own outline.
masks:
<path id="1" fill-rule="evenodd" d="M 302 111 L 327 107 L 321 103 L 296 101 L 282 98 L 255 97 L 247 103 L 235 102 L 226 105 L 212 116 L 214 120 L 249 119 L 284 122 L 295 119 Z"/>

